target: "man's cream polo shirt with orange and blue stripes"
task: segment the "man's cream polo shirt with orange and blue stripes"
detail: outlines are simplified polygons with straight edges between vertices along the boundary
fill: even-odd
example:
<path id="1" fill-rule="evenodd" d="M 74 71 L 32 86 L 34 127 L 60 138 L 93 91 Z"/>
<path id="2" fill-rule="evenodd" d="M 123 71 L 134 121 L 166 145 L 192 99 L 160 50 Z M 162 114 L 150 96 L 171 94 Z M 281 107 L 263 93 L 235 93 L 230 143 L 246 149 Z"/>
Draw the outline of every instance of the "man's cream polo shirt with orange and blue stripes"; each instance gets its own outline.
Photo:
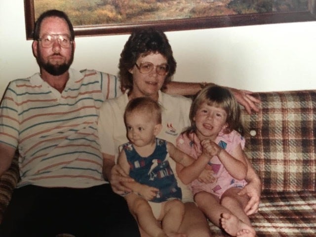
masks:
<path id="1" fill-rule="evenodd" d="M 0 105 L 0 142 L 19 149 L 17 187 L 106 183 L 97 121 L 102 102 L 121 94 L 118 79 L 92 70 L 69 73 L 62 93 L 40 74 L 8 85 Z"/>

